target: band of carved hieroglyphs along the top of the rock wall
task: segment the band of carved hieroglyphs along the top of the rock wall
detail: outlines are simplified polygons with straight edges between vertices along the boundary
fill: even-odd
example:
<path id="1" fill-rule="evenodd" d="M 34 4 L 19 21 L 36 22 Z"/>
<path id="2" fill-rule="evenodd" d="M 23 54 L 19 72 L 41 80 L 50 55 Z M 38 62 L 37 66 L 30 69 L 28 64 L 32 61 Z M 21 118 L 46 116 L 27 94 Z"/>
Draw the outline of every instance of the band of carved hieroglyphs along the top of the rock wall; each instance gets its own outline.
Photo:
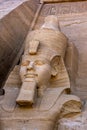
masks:
<path id="1" fill-rule="evenodd" d="M 62 14 L 73 14 L 73 13 L 82 13 L 86 12 L 87 2 L 75 2 L 75 3 L 56 3 L 56 4 L 45 4 L 42 9 L 42 16 L 47 16 L 50 14 L 53 14 L 52 12 L 55 12 L 55 15 L 62 15 Z M 54 10 L 54 11 L 52 11 Z M 47 12 L 47 13 L 46 13 Z"/>

